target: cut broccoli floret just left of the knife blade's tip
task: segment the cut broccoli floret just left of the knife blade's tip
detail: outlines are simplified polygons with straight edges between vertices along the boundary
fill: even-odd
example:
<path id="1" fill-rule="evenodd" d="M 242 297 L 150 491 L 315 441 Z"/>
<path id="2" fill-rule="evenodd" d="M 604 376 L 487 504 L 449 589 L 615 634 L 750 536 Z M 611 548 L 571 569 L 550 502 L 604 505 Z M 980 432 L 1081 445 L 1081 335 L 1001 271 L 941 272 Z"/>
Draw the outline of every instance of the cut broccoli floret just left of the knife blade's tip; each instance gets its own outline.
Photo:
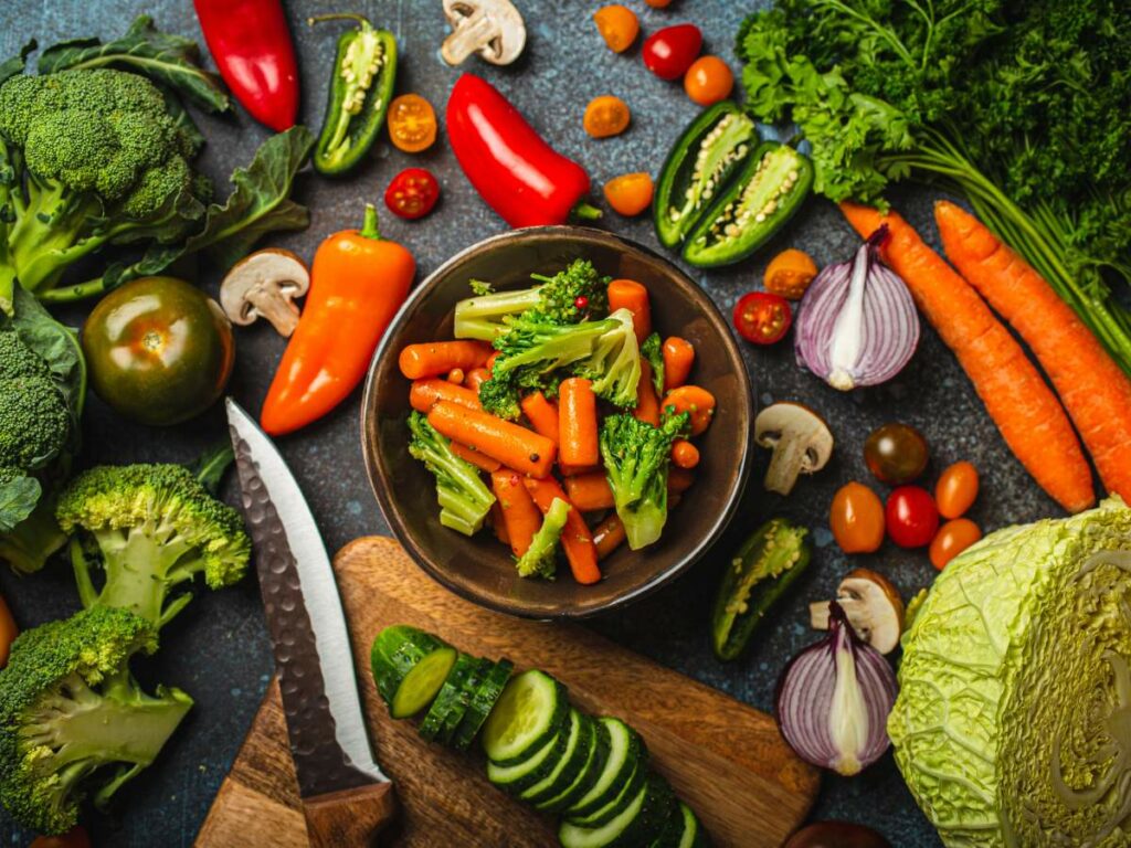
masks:
<path id="1" fill-rule="evenodd" d="M 84 471 L 60 494 L 55 518 L 66 533 L 83 533 L 71 543 L 83 605 L 130 609 L 157 628 L 192 599 L 190 592 L 171 597 L 175 587 L 199 573 L 211 589 L 231 586 L 251 554 L 240 513 L 179 465 Z M 94 543 L 93 556 L 84 542 Z M 98 566 L 101 590 L 92 579 Z"/>

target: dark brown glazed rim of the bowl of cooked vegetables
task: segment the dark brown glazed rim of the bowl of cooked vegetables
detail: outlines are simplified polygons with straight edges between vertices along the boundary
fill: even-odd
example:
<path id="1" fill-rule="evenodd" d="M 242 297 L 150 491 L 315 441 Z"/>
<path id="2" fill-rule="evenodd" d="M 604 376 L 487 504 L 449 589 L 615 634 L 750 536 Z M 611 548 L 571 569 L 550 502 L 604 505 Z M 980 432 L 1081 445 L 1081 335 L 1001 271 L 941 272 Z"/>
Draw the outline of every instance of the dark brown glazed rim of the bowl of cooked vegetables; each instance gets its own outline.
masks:
<path id="1" fill-rule="evenodd" d="M 435 288 L 438 288 L 440 282 L 450 274 L 451 269 L 461 263 L 468 256 L 480 253 L 485 249 L 498 248 L 510 242 L 521 242 L 532 237 L 552 240 L 555 236 L 569 236 L 571 239 L 580 237 L 582 241 L 588 240 L 604 243 L 615 250 L 628 250 L 644 253 L 650 259 L 666 265 L 675 276 L 684 280 L 688 284 L 689 291 L 692 293 L 691 296 L 697 301 L 701 301 L 700 305 L 706 306 L 703 310 L 705 317 L 716 326 L 716 329 L 719 330 L 719 335 L 723 337 L 723 344 L 728 348 L 728 358 L 734 358 L 735 361 L 742 363 L 742 367 L 737 373 L 739 393 L 745 398 L 748 419 L 753 419 L 753 389 L 750 383 L 750 373 L 746 369 L 745 361 L 742 357 L 742 353 L 739 349 L 737 343 L 727 329 L 726 319 L 723 317 L 723 312 L 719 310 L 718 305 L 687 271 L 675 265 L 671 259 L 631 239 L 610 233 L 605 230 L 597 230 L 595 227 L 572 225 L 521 227 L 518 230 L 497 233 L 464 248 L 452 254 L 449 259 L 437 267 L 435 270 L 421 280 L 421 284 L 408 295 L 405 302 L 400 305 L 400 309 L 398 309 L 396 314 L 392 317 L 388 328 L 386 328 L 385 334 L 381 336 L 381 341 L 373 354 L 373 358 L 370 361 L 369 370 L 365 375 L 365 387 L 362 393 L 360 413 L 360 438 L 362 459 L 365 465 L 365 477 L 369 479 L 370 490 L 373 492 L 373 496 L 377 500 L 378 507 L 381 510 L 381 514 L 385 517 L 385 521 L 388 525 L 392 537 L 405 550 L 409 557 L 412 557 L 412 560 L 424 571 L 425 574 L 458 597 L 469 600 L 481 607 L 535 621 L 576 621 L 608 613 L 657 591 L 663 586 L 666 586 L 675 578 L 687 572 L 692 565 L 702 559 L 703 554 L 706 554 L 711 545 L 714 545 L 726 531 L 726 528 L 733 520 L 734 513 L 737 511 L 739 504 L 742 501 L 742 496 L 749 483 L 751 469 L 750 440 L 744 439 L 737 458 L 737 474 L 734 477 L 735 485 L 708 533 L 699 539 L 696 546 L 682 560 L 672 563 L 663 571 L 657 572 L 651 579 L 642 582 L 636 588 L 614 596 L 608 602 L 597 606 L 587 607 L 585 609 L 570 609 L 567 607 L 560 611 L 554 611 L 553 613 L 546 613 L 544 611 L 527 611 L 523 607 L 516 607 L 506 603 L 495 602 L 490 597 L 485 597 L 467 589 L 464 586 L 449 580 L 444 571 L 437 568 L 432 563 L 428 553 L 421 550 L 421 547 L 413 539 L 412 534 L 408 533 L 405 522 L 400 519 L 399 511 L 394 508 L 392 497 L 389 495 L 390 486 L 385 485 L 389 477 L 381 466 L 379 452 L 373 450 L 370 444 L 370 429 L 368 425 L 374 410 L 377 396 L 377 372 L 380 363 L 388 354 L 389 348 L 392 345 L 392 339 L 398 335 L 400 325 L 404 322 L 406 315 L 415 310 L 422 301 L 424 301 Z"/>

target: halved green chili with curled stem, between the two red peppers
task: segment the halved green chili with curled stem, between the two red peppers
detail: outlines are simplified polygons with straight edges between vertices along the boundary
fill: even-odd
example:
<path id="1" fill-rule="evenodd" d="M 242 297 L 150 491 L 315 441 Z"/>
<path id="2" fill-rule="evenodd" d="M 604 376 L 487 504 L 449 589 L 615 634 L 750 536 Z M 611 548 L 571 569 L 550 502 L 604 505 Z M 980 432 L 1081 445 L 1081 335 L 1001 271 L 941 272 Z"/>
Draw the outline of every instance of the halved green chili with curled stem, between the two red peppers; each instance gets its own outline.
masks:
<path id="1" fill-rule="evenodd" d="M 397 41 L 361 15 L 320 15 L 309 23 L 322 20 L 357 21 L 338 38 L 326 120 L 314 148 L 314 167 L 333 175 L 361 162 L 381 131 L 397 77 Z"/>

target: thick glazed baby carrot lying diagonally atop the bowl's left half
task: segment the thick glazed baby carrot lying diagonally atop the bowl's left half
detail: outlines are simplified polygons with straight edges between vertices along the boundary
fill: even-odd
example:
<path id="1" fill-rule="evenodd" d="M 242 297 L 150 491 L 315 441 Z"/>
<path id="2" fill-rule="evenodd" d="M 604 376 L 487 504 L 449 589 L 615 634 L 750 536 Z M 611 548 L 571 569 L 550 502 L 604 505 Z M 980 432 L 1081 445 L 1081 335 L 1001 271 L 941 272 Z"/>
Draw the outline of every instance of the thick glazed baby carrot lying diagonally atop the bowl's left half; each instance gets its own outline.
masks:
<path id="1" fill-rule="evenodd" d="M 429 410 L 428 423 L 440 435 L 463 442 L 532 477 L 549 475 L 558 453 L 558 448 L 544 435 L 449 400 L 441 400 Z"/>

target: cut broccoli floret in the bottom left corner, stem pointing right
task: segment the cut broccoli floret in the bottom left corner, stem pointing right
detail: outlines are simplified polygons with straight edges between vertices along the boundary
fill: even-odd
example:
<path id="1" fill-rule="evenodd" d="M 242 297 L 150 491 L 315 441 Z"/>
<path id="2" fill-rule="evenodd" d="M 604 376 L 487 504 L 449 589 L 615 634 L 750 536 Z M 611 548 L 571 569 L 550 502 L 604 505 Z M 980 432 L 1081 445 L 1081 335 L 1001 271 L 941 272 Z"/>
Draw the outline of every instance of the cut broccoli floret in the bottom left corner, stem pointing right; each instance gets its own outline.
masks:
<path id="1" fill-rule="evenodd" d="M 130 657 L 154 628 L 124 609 L 84 609 L 23 633 L 0 670 L 0 802 L 41 833 L 62 833 L 87 797 L 105 806 L 154 761 L 192 707 L 175 689 L 146 694 Z"/>

